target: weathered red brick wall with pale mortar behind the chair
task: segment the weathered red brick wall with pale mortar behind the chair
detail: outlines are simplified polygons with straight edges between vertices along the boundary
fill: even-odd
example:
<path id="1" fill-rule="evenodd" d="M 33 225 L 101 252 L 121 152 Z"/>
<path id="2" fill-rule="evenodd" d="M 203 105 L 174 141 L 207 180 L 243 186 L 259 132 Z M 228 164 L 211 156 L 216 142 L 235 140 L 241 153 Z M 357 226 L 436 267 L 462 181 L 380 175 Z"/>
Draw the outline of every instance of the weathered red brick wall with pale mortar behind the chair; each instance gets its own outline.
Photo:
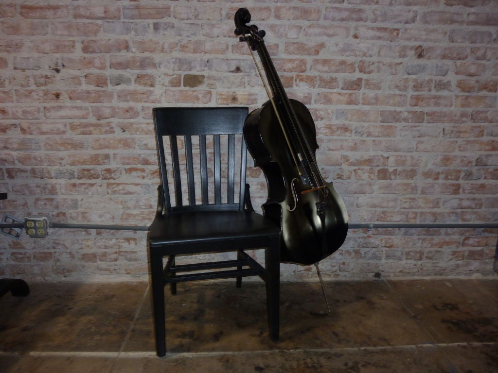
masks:
<path id="1" fill-rule="evenodd" d="M 242 3 L 241 3 L 242 4 Z M 253 1 L 318 163 L 351 222 L 496 222 L 496 0 Z M 0 3 L 0 213 L 148 225 L 151 108 L 248 105 L 265 93 L 230 1 Z M 265 197 L 249 168 L 254 205 Z M 146 279 L 145 232 L 0 235 L 0 276 Z M 327 279 L 491 275 L 497 230 L 351 231 Z M 315 279 L 282 266 L 286 280 Z"/>

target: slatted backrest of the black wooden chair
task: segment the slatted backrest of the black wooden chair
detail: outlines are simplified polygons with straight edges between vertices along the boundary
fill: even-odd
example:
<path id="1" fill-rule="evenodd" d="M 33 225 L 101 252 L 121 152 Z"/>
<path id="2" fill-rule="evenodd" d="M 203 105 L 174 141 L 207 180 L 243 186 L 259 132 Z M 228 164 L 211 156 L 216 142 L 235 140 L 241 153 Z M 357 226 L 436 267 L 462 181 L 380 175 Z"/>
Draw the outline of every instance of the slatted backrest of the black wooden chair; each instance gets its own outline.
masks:
<path id="1" fill-rule="evenodd" d="M 244 209 L 248 113 L 247 107 L 153 109 L 166 214 Z"/>

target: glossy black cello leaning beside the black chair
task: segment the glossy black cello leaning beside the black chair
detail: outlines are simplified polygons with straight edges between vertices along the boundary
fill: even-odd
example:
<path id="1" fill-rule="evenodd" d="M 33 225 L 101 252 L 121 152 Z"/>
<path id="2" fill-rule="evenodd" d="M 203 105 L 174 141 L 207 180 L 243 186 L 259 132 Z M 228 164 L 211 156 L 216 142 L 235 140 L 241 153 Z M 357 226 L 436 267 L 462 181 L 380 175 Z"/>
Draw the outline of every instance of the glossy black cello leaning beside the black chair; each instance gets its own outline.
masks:
<path id="1" fill-rule="evenodd" d="M 332 183 L 320 174 L 315 123 L 309 110 L 287 97 L 264 45 L 265 32 L 249 22 L 249 10 L 240 8 L 235 14 L 235 34 L 248 43 L 251 54 L 257 52 L 269 85 L 268 89 L 254 59 L 270 100 L 249 113 L 244 138 L 254 165 L 266 177 L 268 198 L 263 213 L 281 227 L 281 262 L 316 264 L 344 243 L 346 207 Z"/>

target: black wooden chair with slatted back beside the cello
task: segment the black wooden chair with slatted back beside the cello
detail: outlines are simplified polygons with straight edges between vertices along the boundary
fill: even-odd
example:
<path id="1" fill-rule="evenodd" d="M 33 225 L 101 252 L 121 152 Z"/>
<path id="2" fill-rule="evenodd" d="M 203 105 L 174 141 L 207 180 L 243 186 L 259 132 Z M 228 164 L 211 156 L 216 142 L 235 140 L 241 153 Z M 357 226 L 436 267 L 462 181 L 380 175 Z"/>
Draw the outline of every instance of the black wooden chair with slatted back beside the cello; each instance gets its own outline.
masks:
<path id="1" fill-rule="evenodd" d="M 240 287 L 242 277 L 259 276 L 266 283 L 269 335 L 278 339 L 280 229 L 250 203 L 242 137 L 247 115 L 245 107 L 153 110 L 161 185 L 147 241 L 158 356 L 166 355 L 166 283 L 175 294 L 177 282 L 236 278 Z M 245 252 L 257 248 L 265 248 L 264 267 Z M 176 263 L 180 256 L 230 251 L 236 259 Z"/>

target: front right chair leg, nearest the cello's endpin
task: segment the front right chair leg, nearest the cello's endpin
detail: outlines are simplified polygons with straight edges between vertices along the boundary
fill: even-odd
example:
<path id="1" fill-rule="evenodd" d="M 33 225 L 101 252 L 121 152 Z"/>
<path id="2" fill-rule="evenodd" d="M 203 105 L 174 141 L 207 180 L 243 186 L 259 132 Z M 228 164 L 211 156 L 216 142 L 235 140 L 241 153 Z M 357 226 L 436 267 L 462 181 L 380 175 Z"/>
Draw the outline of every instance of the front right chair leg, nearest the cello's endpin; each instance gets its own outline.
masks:
<path id="1" fill-rule="evenodd" d="M 280 252 L 279 242 L 265 250 L 266 307 L 268 312 L 268 332 L 273 341 L 278 340 L 280 330 Z"/>

